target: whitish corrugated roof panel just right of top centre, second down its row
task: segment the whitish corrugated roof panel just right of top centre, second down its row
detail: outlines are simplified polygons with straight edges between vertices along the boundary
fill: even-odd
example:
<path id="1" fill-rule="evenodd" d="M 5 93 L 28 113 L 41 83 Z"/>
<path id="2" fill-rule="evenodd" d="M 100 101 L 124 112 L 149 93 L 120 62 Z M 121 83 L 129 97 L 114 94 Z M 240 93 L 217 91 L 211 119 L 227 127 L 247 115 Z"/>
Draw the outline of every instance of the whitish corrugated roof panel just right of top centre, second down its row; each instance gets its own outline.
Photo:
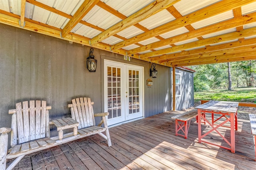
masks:
<path id="1" fill-rule="evenodd" d="M 162 10 L 153 16 L 140 21 L 139 24 L 146 27 L 147 29 L 153 29 L 172 20 L 175 20 L 174 16 L 172 16 L 167 10 Z"/>

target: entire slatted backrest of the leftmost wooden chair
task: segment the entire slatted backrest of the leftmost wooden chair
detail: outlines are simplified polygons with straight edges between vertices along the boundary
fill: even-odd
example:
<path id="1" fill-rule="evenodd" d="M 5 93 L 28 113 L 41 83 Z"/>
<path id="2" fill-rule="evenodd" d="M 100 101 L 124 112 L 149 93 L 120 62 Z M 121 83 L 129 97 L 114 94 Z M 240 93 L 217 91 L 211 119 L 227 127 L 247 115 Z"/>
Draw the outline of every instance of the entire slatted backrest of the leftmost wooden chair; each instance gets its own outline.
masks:
<path id="1" fill-rule="evenodd" d="M 29 104 L 29 106 L 28 106 Z M 35 107 L 36 104 L 36 107 Z M 50 137 L 49 111 L 46 101 L 24 101 L 9 110 L 12 115 L 11 146 L 34 139 Z M 18 139 L 18 141 L 17 141 Z"/>

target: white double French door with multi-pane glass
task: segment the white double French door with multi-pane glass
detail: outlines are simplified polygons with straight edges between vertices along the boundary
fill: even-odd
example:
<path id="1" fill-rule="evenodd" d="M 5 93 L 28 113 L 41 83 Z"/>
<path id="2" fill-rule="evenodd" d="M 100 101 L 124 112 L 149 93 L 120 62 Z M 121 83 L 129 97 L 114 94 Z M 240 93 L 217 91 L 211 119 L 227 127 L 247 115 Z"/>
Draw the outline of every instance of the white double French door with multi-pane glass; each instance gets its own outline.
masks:
<path id="1" fill-rule="evenodd" d="M 143 68 L 104 61 L 104 109 L 108 125 L 143 116 Z"/>

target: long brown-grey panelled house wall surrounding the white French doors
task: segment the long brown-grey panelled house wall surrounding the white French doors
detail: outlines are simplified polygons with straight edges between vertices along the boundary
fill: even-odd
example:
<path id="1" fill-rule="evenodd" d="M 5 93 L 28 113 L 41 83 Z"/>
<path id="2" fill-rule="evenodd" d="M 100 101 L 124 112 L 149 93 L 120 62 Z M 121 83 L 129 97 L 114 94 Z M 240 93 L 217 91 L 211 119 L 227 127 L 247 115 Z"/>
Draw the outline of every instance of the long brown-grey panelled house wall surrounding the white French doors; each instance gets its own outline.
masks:
<path id="1" fill-rule="evenodd" d="M 81 96 L 92 99 L 95 113 L 103 112 L 104 59 L 144 66 L 145 117 L 170 110 L 170 68 L 157 65 L 158 76 L 148 88 L 151 63 L 124 61 L 122 55 L 94 48 L 97 70 L 89 72 L 89 51 L 81 44 L 0 24 L 0 127 L 11 127 L 8 110 L 25 100 L 46 100 L 52 106 L 50 119 L 70 117 L 68 104 Z"/>

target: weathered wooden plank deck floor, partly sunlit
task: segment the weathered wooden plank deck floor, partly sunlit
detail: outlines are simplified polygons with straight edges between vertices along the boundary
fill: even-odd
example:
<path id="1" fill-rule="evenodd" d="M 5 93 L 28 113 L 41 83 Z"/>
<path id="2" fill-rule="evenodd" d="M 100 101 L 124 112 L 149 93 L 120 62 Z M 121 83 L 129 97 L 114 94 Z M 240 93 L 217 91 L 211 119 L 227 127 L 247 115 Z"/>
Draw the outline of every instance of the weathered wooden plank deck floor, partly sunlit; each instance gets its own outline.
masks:
<path id="1" fill-rule="evenodd" d="M 236 153 L 231 153 L 198 143 L 195 119 L 192 119 L 188 139 L 175 136 L 175 123 L 170 117 L 178 113 L 169 111 L 110 128 L 112 147 L 107 147 L 102 137 L 94 135 L 27 155 L 14 169 L 256 169 L 250 121 L 238 119 Z M 202 130 L 207 131 L 208 125 L 203 125 Z M 228 129 L 220 131 L 225 137 L 230 136 Z M 213 133 L 209 140 L 219 138 Z M 223 141 L 219 143 L 222 145 Z M 7 164 L 12 161 L 8 160 Z"/>

